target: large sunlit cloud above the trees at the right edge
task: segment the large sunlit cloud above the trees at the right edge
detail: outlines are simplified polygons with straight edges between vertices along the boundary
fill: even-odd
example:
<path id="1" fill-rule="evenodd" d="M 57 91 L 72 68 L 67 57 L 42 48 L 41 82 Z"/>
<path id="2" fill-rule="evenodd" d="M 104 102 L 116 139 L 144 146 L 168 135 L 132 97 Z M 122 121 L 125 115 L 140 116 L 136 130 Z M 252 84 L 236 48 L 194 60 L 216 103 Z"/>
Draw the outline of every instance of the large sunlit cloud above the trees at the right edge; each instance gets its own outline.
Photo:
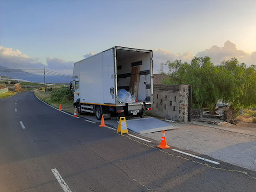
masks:
<path id="1" fill-rule="evenodd" d="M 250 54 L 243 50 L 238 50 L 236 44 L 229 40 L 224 43 L 224 47 L 212 46 L 209 49 L 198 52 L 196 56 L 209 56 L 216 65 L 224 60 L 229 60 L 231 57 L 236 57 L 239 62 L 244 62 L 247 66 L 256 65 L 256 52 Z"/>

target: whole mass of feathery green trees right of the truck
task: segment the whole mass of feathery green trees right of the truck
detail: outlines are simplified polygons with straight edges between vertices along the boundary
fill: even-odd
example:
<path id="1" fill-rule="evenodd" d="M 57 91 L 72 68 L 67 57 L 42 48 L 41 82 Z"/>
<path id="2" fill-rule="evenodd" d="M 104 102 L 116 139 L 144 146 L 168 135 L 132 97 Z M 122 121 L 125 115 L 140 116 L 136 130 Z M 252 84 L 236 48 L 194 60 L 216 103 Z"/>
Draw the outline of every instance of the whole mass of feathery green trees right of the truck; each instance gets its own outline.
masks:
<path id="1" fill-rule="evenodd" d="M 195 57 L 190 63 L 167 61 L 169 78 L 166 84 L 191 84 L 193 107 L 212 109 L 222 100 L 238 112 L 241 108 L 256 107 L 256 67 L 246 67 L 231 58 L 215 66 L 209 57 Z"/>

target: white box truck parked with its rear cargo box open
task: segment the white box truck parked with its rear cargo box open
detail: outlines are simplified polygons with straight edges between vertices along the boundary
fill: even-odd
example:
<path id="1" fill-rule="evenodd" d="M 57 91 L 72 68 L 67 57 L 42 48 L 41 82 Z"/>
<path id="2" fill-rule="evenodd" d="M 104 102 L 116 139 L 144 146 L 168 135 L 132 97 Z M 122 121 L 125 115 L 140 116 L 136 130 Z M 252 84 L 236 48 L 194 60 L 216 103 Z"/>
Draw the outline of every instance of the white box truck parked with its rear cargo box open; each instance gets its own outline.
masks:
<path id="1" fill-rule="evenodd" d="M 117 114 L 142 118 L 146 110 L 152 110 L 152 50 L 113 47 L 75 62 L 73 77 L 77 79 L 71 81 L 70 89 L 74 91 L 74 107 L 79 114 L 95 113 L 98 120 L 102 115 Z M 133 90 L 136 100 L 120 102 L 118 91 L 121 89 L 128 94 Z"/>

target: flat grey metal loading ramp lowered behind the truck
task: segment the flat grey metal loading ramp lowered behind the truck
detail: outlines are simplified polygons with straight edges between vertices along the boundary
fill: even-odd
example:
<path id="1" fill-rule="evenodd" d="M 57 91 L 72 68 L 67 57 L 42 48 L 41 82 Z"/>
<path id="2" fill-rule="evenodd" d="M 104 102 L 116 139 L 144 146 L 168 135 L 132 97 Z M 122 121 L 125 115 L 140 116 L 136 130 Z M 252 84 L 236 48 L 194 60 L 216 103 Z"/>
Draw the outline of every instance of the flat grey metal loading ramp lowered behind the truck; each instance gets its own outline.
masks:
<path id="1" fill-rule="evenodd" d="M 176 126 L 156 119 L 154 117 L 148 117 L 143 119 L 130 119 L 126 120 L 126 123 L 129 130 L 132 130 L 139 134 L 177 129 Z"/>

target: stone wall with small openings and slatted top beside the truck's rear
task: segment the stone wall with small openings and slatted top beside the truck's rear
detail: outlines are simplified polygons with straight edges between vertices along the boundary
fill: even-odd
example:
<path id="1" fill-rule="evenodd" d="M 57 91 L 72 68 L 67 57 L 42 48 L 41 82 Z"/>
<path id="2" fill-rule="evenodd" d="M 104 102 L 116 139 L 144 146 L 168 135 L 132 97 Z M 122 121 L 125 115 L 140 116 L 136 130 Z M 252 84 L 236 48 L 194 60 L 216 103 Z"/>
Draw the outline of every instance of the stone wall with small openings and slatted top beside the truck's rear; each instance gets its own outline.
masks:
<path id="1" fill-rule="evenodd" d="M 153 97 L 152 115 L 187 122 L 188 85 L 156 84 Z"/>

